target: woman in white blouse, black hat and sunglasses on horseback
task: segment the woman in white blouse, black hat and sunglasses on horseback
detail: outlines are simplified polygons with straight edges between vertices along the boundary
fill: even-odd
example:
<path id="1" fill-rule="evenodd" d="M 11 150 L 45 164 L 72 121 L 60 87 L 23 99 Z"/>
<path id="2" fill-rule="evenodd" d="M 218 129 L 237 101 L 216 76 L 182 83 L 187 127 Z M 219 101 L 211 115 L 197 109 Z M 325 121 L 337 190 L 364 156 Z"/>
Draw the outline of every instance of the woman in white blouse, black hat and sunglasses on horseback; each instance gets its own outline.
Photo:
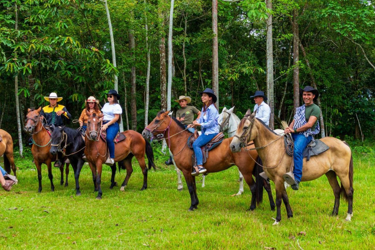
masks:
<path id="1" fill-rule="evenodd" d="M 114 89 L 110 89 L 107 93 L 108 102 L 104 104 L 102 108 L 103 116 L 103 125 L 102 131 L 107 132 L 107 145 L 110 151 L 110 156 L 107 158 L 105 164 L 112 166 L 115 158 L 115 143 L 113 140 L 118 133 L 118 123 L 120 123 L 121 119 L 120 115 L 122 113 L 122 108 L 120 104 L 118 104 L 118 100 L 120 99 L 120 95 L 118 95 L 117 91 Z"/>

